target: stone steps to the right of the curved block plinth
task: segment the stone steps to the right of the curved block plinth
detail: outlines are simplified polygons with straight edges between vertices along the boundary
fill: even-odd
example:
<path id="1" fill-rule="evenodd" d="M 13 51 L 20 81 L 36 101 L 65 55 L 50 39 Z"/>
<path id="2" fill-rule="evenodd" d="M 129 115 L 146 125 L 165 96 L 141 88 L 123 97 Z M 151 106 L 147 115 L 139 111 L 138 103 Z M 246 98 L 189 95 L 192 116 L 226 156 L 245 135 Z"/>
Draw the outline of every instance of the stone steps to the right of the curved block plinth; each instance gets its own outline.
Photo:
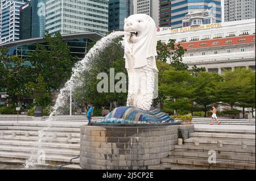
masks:
<path id="1" fill-rule="evenodd" d="M 195 132 L 183 140 L 183 145 L 175 145 L 168 158 L 162 158 L 160 165 L 149 169 L 255 169 L 255 129 L 235 128 L 195 126 Z M 218 141 L 222 141 L 222 146 Z M 212 151 L 216 151 L 217 163 L 208 163 Z"/>

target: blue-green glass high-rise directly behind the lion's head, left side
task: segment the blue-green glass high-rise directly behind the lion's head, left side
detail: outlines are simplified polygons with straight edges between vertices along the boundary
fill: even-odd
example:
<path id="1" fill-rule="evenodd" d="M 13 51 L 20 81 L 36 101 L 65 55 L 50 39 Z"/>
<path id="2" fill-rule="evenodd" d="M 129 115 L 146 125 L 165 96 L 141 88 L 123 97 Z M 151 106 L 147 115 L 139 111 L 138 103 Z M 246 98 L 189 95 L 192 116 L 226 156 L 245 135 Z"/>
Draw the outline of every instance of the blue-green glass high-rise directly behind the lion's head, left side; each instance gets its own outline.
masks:
<path id="1" fill-rule="evenodd" d="M 130 0 L 109 0 L 109 31 L 123 30 L 130 15 Z"/>

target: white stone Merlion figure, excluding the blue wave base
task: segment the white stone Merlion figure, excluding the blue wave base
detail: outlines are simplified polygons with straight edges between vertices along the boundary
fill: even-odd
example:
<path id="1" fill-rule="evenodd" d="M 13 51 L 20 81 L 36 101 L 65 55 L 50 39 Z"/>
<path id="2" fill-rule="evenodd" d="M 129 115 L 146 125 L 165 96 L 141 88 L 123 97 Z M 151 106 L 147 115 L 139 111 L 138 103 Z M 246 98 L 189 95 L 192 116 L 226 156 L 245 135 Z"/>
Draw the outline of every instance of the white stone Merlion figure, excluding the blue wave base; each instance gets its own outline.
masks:
<path id="1" fill-rule="evenodd" d="M 146 14 L 134 14 L 125 19 L 125 68 L 129 86 L 127 106 L 148 111 L 154 97 L 156 68 L 156 26 Z"/>

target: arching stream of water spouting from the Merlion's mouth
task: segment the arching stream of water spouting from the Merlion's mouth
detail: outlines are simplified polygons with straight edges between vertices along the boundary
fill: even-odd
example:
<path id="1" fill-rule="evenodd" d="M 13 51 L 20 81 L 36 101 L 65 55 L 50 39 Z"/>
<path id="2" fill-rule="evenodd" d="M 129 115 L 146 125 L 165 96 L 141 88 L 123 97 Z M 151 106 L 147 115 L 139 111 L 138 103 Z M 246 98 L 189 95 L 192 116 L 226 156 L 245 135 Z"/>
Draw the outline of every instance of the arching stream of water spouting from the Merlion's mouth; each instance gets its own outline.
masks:
<path id="1" fill-rule="evenodd" d="M 71 78 L 65 83 L 65 86 L 60 90 L 60 94 L 57 96 L 55 106 L 53 107 L 53 111 L 49 115 L 46 120 L 47 126 L 42 130 L 38 131 L 38 145 L 37 148 L 31 151 L 31 156 L 26 160 L 26 165 L 24 169 L 30 169 L 34 167 L 38 162 L 44 161 L 46 154 L 44 154 L 44 150 L 42 148 L 43 137 L 47 136 L 47 129 L 51 127 L 53 116 L 56 116 L 60 112 L 60 108 L 65 104 L 68 104 L 70 90 L 76 90 L 77 87 L 81 86 L 82 79 L 81 75 L 86 70 L 90 70 L 90 65 L 92 65 L 94 57 L 98 56 L 98 53 L 104 48 L 106 48 L 112 41 L 118 37 L 124 35 L 125 32 L 115 31 L 110 33 L 108 36 L 102 37 L 101 40 L 97 41 L 97 43 L 89 50 L 89 52 L 85 55 L 84 59 L 77 62 L 72 69 Z"/>

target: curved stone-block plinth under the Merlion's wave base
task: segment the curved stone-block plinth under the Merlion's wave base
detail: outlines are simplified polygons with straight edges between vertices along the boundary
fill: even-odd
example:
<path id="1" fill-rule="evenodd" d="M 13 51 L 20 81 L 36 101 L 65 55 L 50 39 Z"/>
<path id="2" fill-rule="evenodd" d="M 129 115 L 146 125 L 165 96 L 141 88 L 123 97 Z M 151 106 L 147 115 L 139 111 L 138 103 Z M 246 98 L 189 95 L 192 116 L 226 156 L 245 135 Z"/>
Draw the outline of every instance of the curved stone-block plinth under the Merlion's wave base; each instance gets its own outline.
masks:
<path id="1" fill-rule="evenodd" d="M 99 124 L 81 126 L 83 169 L 147 169 L 160 164 L 177 144 L 179 125 Z"/>

